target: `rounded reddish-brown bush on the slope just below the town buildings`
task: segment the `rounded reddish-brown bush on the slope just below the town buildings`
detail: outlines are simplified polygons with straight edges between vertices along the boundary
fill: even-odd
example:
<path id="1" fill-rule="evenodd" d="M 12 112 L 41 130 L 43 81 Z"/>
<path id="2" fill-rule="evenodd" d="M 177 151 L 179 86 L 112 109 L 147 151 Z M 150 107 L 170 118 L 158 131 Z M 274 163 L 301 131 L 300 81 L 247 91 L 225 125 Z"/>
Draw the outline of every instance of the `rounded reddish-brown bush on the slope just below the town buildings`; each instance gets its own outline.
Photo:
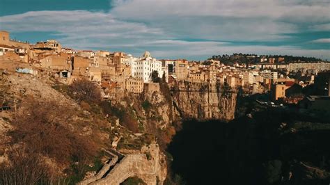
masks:
<path id="1" fill-rule="evenodd" d="M 100 102 L 101 91 L 94 83 L 86 79 L 74 81 L 69 88 L 69 95 L 76 99 L 79 103 L 85 102 Z"/>

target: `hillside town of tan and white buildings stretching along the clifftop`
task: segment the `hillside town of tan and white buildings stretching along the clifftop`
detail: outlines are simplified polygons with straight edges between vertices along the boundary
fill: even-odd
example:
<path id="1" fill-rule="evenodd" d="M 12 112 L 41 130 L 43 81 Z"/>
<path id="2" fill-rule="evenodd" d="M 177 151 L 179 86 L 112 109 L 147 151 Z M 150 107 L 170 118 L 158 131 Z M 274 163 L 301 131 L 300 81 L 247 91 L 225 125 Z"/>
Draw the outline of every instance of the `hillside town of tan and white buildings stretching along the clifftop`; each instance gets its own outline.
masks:
<path id="1" fill-rule="evenodd" d="M 284 57 L 251 55 L 249 58 L 256 63 L 242 63 L 237 59 L 225 65 L 217 58 L 207 61 L 158 59 L 148 51 L 132 56 L 122 51 L 75 50 L 63 47 L 56 40 L 32 45 L 11 39 L 7 31 L 0 31 L 0 38 L 0 61 L 30 66 L 18 64 L 16 72 L 49 74 L 68 84 L 88 79 L 102 89 L 104 99 L 120 99 L 124 92 L 139 95 L 160 81 L 168 83 L 170 89 L 176 82 L 184 81 L 226 86 L 240 90 L 243 95 L 267 93 L 271 101 L 264 103 L 269 106 L 299 104 L 307 111 L 330 113 L 329 106 L 323 106 L 330 104 L 330 63 L 325 61 L 288 63 Z"/>

